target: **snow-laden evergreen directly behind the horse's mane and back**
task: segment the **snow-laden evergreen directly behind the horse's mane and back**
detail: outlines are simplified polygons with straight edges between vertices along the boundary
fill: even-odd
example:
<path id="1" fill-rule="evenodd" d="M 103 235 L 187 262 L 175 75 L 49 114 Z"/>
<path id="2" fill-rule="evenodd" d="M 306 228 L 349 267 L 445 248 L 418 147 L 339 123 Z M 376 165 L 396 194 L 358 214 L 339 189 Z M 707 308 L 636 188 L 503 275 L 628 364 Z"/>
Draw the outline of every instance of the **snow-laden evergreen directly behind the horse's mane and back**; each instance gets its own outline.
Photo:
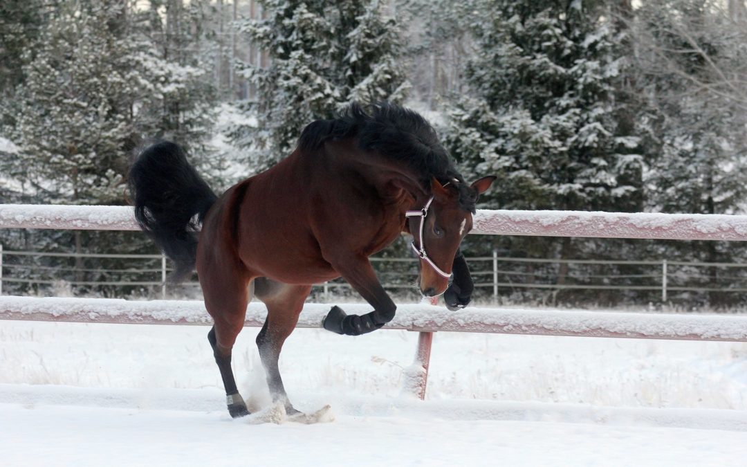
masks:
<path id="1" fill-rule="evenodd" d="M 397 25 L 382 15 L 379 1 L 262 4 L 266 19 L 241 25 L 270 58 L 266 68 L 244 66 L 258 89 L 258 99 L 245 107 L 257 126 L 235 131 L 252 148 L 255 170 L 288 155 L 304 126 L 331 118 L 353 100 L 403 99 L 408 84 L 398 63 Z"/>

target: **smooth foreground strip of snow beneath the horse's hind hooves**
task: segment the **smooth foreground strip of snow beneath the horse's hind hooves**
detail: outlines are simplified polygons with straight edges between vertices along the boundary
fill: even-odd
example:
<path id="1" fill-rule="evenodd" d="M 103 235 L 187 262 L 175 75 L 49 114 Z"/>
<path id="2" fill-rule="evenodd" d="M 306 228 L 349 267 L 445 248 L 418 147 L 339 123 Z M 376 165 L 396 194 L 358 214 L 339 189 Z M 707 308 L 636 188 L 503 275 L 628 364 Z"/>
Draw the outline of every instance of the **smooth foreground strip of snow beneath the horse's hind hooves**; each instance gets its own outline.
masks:
<path id="1" fill-rule="evenodd" d="M 2 433 L 13 440 L 8 465 L 716 466 L 747 454 L 747 433 L 719 430 L 354 415 L 256 426 L 216 412 L 69 406 L 0 412 L 12 427 Z"/>

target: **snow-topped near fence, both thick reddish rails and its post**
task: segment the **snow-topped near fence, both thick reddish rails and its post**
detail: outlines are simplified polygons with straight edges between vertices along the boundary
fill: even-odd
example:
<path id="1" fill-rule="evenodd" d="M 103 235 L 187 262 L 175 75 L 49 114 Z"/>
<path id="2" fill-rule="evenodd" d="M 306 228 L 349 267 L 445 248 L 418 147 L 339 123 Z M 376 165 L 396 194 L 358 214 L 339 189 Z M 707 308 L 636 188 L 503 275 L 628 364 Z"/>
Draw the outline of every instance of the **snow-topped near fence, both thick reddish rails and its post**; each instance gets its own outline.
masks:
<path id="1" fill-rule="evenodd" d="M 128 206 L 0 205 L 0 228 L 137 230 Z M 747 216 L 581 211 L 477 211 L 473 234 L 557 237 L 747 240 Z M 346 305 L 364 313 L 366 305 Z M 318 328 L 329 305 L 308 304 L 299 327 Z M 249 305 L 247 326 L 260 327 L 264 311 Z M 0 319 L 117 324 L 211 324 L 201 302 L 0 297 Z M 418 331 L 416 362 L 424 368 L 414 387 L 424 398 L 433 333 L 506 333 L 698 341 L 747 341 L 747 318 L 526 309 L 446 312 L 404 305 L 385 329 Z"/>

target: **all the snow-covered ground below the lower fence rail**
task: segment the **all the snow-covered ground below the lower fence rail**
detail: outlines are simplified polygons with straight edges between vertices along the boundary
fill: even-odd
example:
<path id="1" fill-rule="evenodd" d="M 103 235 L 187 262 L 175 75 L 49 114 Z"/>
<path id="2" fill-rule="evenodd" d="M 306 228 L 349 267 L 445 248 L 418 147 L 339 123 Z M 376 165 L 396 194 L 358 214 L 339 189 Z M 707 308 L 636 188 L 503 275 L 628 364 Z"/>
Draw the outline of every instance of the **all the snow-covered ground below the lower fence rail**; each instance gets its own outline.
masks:
<path id="1" fill-rule="evenodd" d="M 311 426 L 232 421 L 207 327 L 0 321 L 3 465 L 737 466 L 747 344 L 437 333 L 427 400 L 403 392 L 416 333 L 297 330 L 281 371 Z M 253 340 L 234 366 L 269 405 Z"/>

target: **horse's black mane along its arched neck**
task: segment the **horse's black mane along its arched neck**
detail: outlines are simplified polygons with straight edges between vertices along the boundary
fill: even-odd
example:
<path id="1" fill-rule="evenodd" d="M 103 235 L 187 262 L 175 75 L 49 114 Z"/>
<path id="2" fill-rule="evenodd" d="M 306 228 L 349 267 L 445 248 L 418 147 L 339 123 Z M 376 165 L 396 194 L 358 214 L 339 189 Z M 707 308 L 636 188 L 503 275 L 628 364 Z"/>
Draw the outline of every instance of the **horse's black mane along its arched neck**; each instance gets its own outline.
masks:
<path id="1" fill-rule="evenodd" d="M 348 105 L 335 120 L 317 120 L 306 126 L 299 138 L 302 151 L 319 149 L 327 140 L 357 137 L 358 146 L 376 151 L 394 161 L 406 164 L 418 174 L 421 184 L 429 188 L 432 178 L 441 184 L 459 181 L 459 206 L 474 212 L 477 193 L 465 183 L 444 146 L 438 142 L 433 126 L 421 114 L 389 102 Z"/>

